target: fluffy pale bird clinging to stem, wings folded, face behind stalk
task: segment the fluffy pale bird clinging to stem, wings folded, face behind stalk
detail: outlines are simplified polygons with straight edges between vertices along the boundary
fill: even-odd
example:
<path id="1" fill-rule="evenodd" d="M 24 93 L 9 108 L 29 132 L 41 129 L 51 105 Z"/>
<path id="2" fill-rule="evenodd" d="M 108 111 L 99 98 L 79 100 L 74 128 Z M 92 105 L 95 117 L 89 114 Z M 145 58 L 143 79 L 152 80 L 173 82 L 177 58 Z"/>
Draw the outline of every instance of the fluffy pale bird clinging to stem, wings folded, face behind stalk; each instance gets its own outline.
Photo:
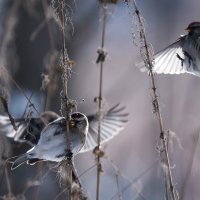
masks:
<path id="1" fill-rule="evenodd" d="M 41 132 L 38 144 L 25 154 L 19 156 L 13 163 L 12 169 L 15 169 L 25 161 L 34 164 L 40 160 L 49 160 L 61 162 L 71 150 L 75 156 L 84 146 L 88 132 L 88 119 L 80 113 L 75 112 L 71 115 L 69 121 L 69 144 L 67 146 L 66 119 L 59 117 L 49 123 Z"/>

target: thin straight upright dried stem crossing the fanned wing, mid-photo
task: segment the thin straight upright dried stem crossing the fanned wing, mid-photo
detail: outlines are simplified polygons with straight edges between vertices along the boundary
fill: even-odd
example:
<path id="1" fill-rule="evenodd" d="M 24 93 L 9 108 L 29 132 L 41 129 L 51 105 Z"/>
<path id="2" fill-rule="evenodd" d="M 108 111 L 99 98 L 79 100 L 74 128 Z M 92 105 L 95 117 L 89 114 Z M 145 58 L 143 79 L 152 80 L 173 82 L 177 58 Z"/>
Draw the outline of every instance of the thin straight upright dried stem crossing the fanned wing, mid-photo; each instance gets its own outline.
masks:
<path id="1" fill-rule="evenodd" d="M 101 38 L 101 52 L 103 53 L 103 57 L 105 56 L 103 52 L 104 43 L 105 43 L 105 30 L 106 30 L 106 3 L 102 3 L 103 8 L 103 16 L 102 16 L 102 38 Z M 100 53 L 99 53 L 99 56 Z M 98 96 L 98 137 L 97 137 L 97 149 L 100 149 L 101 145 L 101 112 L 102 112 L 102 88 L 103 88 L 103 67 L 104 67 L 104 59 L 100 60 L 100 77 L 99 77 L 99 96 Z M 100 190 L 100 173 L 102 171 L 101 167 L 101 156 L 97 154 L 97 182 L 96 182 L 96 200 L 99 200 L 99 190 Z"/>

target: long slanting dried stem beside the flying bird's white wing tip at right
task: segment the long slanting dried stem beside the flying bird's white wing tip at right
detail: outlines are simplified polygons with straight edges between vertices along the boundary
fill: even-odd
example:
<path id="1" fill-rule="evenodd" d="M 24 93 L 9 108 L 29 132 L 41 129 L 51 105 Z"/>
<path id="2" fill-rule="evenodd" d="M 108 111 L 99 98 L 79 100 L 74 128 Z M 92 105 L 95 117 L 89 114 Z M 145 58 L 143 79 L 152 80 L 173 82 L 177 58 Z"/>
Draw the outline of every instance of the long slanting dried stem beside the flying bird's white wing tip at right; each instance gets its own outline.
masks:
<path id="1" fill-rule="evenodd" d="M 177 194 L 176 190 L 174 188 L 173 184 L 173 179 L 172 179 L 172 172 L 171 172 L 171 167 L 170 167 L 170 160 L 169 160 L 169 154 L 168 154 L 168 149 L 167 149 L 167 144 L 166 144 L 166 136 L 165 132 L 163 129 L 163 122 L 162 122 L 162 117 L 160 113 L 160 105 L 159 105 L 159 100 L 158 100 L 158 95 L 157 95 L 157 90 L 156 90 L 156 85 L 155 85 L 155 79 L 154 79 L 154 73 L 153 73 L 153 63 L 150 55 L 150 50 L 149 50 L 149 45 L 146 40 L 146 35 L 144 31 L 144 26 L 142 23 L 140 11 L 138 10 L 136 6 L 135 0 L 133 0 L 133 5 L 135 8 L 135 13 L 137 15 L 137 19 L 139 22 L 139 31 L 140 31 L 140 39 L 144 45 L 145 49 L 145 55 L 146 55 L 146 61 L 147 61 L 147 67 L 149 69 L 149 75 L 150 75 L 150 80 L 151 80 L 151 85 L 152 85 L 152 91 L 153 91 L 153 106 L 154 106 L 154 111 L 158 119 L 159 127 L 160 127 L 160 140 L 161 140 L 161 146 L 165 155 L 165 164 L 167 166 L 167 176 L 169 179 L 169 189 L 171 191 L 171 196 L 173 200 L 177 199 Z"/>

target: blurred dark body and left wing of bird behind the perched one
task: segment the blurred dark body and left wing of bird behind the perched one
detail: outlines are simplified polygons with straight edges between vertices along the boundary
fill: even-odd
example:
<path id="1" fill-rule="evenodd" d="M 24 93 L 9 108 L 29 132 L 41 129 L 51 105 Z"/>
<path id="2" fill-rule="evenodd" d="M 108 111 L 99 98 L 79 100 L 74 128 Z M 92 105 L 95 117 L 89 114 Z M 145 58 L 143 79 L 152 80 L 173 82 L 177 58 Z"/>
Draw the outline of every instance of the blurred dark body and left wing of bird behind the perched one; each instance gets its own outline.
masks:
<path id="1" fill-rule="evenodd" d="M 39 117 L 32 117 L 30 119 L 16 118 L 15 125 L 17 130 L 15 130 L 9 117 L 0 115 L 0 133 L 13 138 L 16 142 L 26 142 L 34 146 L 40 138 L 42 129 L 59 117 L 55 112 L 45 111 Z"/>

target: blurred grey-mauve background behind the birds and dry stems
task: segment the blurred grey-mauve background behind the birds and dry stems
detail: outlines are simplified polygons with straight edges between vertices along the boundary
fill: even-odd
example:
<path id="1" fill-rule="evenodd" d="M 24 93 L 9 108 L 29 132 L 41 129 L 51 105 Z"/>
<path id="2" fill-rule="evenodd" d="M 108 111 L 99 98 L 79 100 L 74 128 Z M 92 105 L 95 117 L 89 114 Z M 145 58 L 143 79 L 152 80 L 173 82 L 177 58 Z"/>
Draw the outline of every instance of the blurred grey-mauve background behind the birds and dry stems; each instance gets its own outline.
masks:
<path id="1" fill-rule="evenodd" d="M 60 114 L 61 80 L 56 72 L 59 70 L 57 58 L 61 42 L 59 27 L 49 5 L 48 0 L 0 1 L 0 64 L 6 67 L 28 97 L 32 95 L 31 101 L 40 112 L 48 109 Z M 198 0 L 141 0 L 137 5 L 145 19 L 147 38 L 154 52 L 186 34 L 184 29 L 188 24 L 200 19 Z M 70 59 L 76 62 L 69 81 L 69 94 L 77 100 L 79 111 L 92 114 L 98 109 L 94 98 L 98 96 L 100 68 L 95 61 L 101 45 L 101 11 L 97 0 L 69 1 L 69 7 L 72 23 L 67 26 L 67 50 Z M 159 126 L 152 112 L 149 76 L 135 66 L 141 59 L 132 38 L 136 31 L 132 20 L 134 11 L 123 1 L 109 5 L 108 9 L 105 36 L 108 56 L 103 96 L 108 107 L 120 103 L 126 106 L 130 115 L 125 129 L 103 147 L 106 156 L 102 159 L 100 199 L 120 199 L 116 182 L 119 177 L 121 199 L 161 200 L 164 199 L 165 182 L 157 151 Z M 44 77 L 41 75 L 52 71 L 45 108 L 46 90 L 41 88 Z M 14 117 L 22 116 L 27 99 L 4 71 L 0 77 L 1 90 L 8 95 L 10 113 Z M 156 85 L 164 129 L 171 130 L 169 156 L 173 181 L 182 199 L 197 200 L 200 196 L 200 78 L 188 74 L 156 75 Z M 3 107 L 1 114 L 6 115 Z M 7 138 L 1 143 L 9 156 L 19 155 L 30 148 L 13 144 Z M 5 151 L 1 148 L 3 153 Z M 94 164 L 92 152 L 75 158 L 79 174 Z M 36 199 L 38 187 L 28 187 L 25 196 L 19 196 L 27 182 L 34 180 L 36 168 L 36 165 L 24 164 L 10 171 L 8 165 L 16 199 Z M 96 167 L 85 172 L 80 179 L 88 197 L 95 199 Z M 61 191 L 57 173 L 44 167 L 38 199 L 55 199 Z M 0 188 L 2 199 L 6 199 L 7 193 L 4 178 Z M 63 194 L 58 199 L 66 198 Z"/>

